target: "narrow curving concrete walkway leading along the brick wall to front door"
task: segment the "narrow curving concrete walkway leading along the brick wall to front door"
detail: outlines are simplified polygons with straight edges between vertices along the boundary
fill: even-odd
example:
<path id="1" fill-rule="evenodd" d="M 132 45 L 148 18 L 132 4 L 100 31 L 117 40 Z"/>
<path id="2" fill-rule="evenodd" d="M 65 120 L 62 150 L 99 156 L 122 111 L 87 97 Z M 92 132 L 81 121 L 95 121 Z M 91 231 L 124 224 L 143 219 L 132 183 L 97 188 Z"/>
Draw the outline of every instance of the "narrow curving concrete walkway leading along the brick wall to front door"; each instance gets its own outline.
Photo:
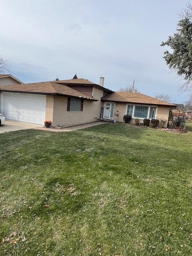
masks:
<path id="1" fill-rule="evenodd" d="M 84 128 L 100 125 L 100 124 L 107 124 L 106 122 L 94 122 L 94 123 L 89 123 L 89 124 L 81 124 L 77 126 L 71 126 L 67 128 L 44 128 L 44 127 L 39 127 L 39 128 L 34 128 L 35 130 L 41 130 L 41 131 L 47 131 L 47 132 L 71 132 L 71 131 L 76 131 L 76 130 L 81 130 Z"/>

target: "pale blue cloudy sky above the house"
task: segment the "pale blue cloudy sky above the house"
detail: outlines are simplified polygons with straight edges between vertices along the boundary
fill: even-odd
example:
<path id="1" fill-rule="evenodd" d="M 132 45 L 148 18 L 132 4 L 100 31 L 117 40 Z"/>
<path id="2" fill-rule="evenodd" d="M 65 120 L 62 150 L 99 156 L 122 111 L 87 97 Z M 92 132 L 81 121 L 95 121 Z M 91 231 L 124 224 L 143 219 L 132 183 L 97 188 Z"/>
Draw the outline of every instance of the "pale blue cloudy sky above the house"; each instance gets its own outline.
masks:
<path id="1" fill-rule="evenodd" d="M 0 0 L 0 56 L 22 82 L 77 74 L 117 91 L 135 80 L 149 96 L 182 103 L 191 92 L 168 69 L 162 41 L 176 32 L 185 0 Z"/>

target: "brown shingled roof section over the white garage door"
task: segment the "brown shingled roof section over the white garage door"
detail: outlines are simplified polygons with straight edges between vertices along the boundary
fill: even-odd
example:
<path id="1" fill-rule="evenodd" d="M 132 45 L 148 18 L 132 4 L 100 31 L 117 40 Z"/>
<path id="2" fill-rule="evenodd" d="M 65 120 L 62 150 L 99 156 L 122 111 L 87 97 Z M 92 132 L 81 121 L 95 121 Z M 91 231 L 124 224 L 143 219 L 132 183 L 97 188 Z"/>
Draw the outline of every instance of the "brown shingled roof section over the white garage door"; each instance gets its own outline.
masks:
<path id="1" fill-rule="evenodd" d="M 4 92 L 25 92 L 38 94 L 51 94 L 58 96 L 71 96 L 75 98 L 84 98 L 86 100 L 98 101 L 94 98 L 89 98 L 88 95 L 74 90 L 69 86 L 57 84 L 56 82 L 39 82 L 32 84 L 15 84 L 0 86 L 0 91 Z"/>

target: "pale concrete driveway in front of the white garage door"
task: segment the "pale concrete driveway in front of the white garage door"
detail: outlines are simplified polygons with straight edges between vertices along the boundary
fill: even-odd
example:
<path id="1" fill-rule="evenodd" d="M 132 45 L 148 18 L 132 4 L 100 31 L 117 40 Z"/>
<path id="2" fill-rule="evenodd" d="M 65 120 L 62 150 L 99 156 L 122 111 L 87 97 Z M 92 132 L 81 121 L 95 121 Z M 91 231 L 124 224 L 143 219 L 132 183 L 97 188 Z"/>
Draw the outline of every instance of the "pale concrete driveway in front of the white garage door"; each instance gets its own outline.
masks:
<path id="1" fill-rule="evenodd" d="M 14 121 L 14 120 L 5 120 L 4 125 L 0 125 L 0 133 L 3 132 L 12 132 L 12 131 L 18 131 L 18 130 L 25 130 L 25 129 L 32 129 L 32 128 L 38 128 L 43 127 L 43 125 L 40 124 L 30 124 L 20 121 Z"/>

